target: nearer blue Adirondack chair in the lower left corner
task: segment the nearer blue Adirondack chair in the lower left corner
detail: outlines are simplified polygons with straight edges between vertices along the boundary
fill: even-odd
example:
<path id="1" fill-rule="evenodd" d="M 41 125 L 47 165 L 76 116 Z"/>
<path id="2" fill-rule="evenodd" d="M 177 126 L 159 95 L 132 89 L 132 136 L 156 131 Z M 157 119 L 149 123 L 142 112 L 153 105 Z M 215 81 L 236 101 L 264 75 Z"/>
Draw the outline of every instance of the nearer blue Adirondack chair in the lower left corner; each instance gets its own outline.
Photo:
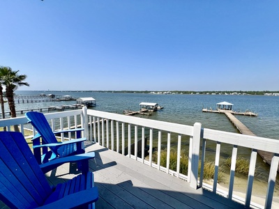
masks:
<path id="1" fill-rule="evenodd" d="M 0 198 L 8 207 L 94 208 L 98 189 L 93 186 L 93 173 L 50 187 L 22 133 L 0 132 L 0 150 Z M 58 161 L 50 163 L 54 162 Z"/>

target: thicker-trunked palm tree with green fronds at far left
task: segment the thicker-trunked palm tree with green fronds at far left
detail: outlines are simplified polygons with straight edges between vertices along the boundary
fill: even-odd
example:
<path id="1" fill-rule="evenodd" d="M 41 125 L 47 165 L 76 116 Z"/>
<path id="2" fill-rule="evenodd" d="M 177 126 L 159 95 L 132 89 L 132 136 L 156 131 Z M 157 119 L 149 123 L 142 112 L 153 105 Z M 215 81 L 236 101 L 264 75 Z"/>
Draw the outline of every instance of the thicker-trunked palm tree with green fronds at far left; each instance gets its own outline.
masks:
<path id="1" fill-rule="evenodd" d="M 17 116 L 15 111 L 15 100 L 13 98 L 15 90 L 18 86 L 29 86 L 24 80 L 27 75 L 18 75 L 19 70 L 13 71 L 10 67 L 1 68 L 1 81 L 6 86 L 6 97 L 8 99 L 8 106 L 10 108 L 10 115 L 12 118 Z M 15 125 L 15 131 L 19 131 L 17 125 Z"/>

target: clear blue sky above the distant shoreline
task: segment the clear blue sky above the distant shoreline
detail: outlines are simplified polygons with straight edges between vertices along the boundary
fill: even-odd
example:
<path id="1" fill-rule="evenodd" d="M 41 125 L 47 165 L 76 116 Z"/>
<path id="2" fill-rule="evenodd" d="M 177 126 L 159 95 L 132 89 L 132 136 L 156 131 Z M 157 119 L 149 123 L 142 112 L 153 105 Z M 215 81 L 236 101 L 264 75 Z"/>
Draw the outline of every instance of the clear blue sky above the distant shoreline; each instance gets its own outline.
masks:
<path id="1" fill-rule="evenodd" d="M 18 90 L 279 91 L 279 1 L 1 0 Z"/>

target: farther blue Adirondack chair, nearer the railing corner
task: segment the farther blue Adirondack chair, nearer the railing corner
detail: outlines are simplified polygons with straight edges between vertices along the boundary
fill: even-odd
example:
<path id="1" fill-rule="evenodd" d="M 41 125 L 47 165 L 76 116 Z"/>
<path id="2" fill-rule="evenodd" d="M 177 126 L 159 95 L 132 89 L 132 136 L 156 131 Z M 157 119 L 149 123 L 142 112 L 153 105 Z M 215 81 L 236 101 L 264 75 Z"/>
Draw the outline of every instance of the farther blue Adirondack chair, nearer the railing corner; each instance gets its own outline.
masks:
<path id="1" fill-rule="evenodd" d="M 47 122 L 44 114 L 37 111 L 29 111 L 25 116 L 38 132 L 38 134 L 33 137 L 32 141 L 33 153 L 39 164 L 49 162 L 55 158 L 77 155 L 85 152 L 84 141 L 86 141 L 86 138 L 80 138 L 80 132 L 83 130 L 82 128 L 52 132 L 50 124 Z M 77 138 L 80 139 L 64 142 L 57 141 L 55 134 L 61 134 L 63 132 L 77 132 Z M 43 140 L 40 141 L 40 139 Z M 50 150 L 47 148 L 50 148 Z"/>

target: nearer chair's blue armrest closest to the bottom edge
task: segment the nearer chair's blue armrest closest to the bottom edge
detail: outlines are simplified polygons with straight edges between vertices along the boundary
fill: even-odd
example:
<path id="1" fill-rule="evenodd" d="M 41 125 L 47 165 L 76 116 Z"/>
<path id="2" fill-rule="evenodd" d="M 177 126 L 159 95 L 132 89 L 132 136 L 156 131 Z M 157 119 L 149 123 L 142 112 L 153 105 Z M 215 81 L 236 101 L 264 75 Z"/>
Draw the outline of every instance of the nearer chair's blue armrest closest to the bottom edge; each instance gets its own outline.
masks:
<path id="1" fill-rule="evenodd" d="M 53 208 L 61 208 L 61 206 L 63 206 L 63 208 L 75 208 L 78 206 L 82 206 L 83 204 L 96 202 L 97 200 L 98 200 L 98 188 L 92 187 L 90 189 L 85 189 L 80 192 L 63 196 L 62 199 L 49 203 L 45 206 L 41 206 L 39 208 L 53 209 Z"/>

